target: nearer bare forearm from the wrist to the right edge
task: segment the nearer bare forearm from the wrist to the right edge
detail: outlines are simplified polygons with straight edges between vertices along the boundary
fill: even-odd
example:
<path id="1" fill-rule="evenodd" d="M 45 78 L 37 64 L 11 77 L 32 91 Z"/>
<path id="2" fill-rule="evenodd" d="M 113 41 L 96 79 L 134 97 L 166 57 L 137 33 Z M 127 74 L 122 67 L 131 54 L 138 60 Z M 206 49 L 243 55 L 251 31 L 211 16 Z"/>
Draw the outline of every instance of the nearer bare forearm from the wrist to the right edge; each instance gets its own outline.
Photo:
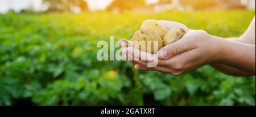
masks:
<path id="1" fill-rule="evenodd" d="M 234 66 L 255 75 L 255 45 L 214 38 L 220 44 L 218 63 Z"/>

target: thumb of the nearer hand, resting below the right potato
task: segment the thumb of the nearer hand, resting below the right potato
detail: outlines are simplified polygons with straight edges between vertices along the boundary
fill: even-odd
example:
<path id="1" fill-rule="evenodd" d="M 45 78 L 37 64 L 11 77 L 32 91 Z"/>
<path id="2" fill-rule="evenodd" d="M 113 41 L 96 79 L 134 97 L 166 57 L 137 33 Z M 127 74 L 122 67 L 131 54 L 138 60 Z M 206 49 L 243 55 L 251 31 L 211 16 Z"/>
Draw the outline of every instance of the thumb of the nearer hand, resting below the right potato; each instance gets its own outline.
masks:
<path id="1" fill-rule="evenodd" d="M 185 41 L 184 38 L 181 38 L 181 40 L 176 41 L 170 45 L 164 46 L 162 49 L 160 49 L 158 51 L 158 56 L 160 59 L 163 60 L 170 59 L 178 54 L 183 53 L 184 51 L 187 51 L 188 47 L 188 42 Z"/>

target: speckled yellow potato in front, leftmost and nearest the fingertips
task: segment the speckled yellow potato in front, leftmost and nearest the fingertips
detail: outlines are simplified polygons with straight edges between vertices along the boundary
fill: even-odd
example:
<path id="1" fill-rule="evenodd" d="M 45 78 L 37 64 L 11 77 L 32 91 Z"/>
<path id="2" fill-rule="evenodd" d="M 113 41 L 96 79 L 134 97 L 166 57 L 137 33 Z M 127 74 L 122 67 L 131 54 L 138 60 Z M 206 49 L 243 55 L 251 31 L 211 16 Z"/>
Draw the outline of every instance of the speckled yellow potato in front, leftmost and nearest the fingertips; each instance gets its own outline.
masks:
<path id="1" fill-rule="evenodd" d="M 147 44 L 147 41 L 150 41 L 150 44 Z M 154 45 L 154 41 L 158 41 L 158 44 Z M 158 36 L 158 34 L 152 32 L 151 30 L 141 29 L 134 33 L 132 44 L 133 47 L 136 47 L 139 50 L 155 54 L 163 47 L 163 40 Z"/>

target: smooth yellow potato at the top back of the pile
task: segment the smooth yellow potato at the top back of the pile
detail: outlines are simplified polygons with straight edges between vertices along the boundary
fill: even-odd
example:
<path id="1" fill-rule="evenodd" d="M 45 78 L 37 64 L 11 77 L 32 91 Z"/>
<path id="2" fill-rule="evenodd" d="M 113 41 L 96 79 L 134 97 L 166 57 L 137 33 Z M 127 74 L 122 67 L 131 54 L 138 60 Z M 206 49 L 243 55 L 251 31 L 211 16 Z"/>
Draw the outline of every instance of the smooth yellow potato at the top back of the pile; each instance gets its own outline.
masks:
<path id="1" fill-rule="evenodd" d="M 169 31 L 168 28 L 164 27 L 156 20 L 144 21 L 144 23 L 141 26 L 141 29 L 144 29 L 144 30 L 150 29 L 151 31 L 158 34 L 161 38 L 163 38 L 164 34 L 166 34 Z"/>

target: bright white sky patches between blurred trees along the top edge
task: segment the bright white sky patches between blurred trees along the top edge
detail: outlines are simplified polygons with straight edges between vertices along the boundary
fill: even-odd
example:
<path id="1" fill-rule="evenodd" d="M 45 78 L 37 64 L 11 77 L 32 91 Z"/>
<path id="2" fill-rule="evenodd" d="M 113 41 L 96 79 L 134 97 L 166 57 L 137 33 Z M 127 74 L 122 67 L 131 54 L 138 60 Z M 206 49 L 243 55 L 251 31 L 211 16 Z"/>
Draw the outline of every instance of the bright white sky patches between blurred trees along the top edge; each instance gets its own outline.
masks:
<path id="1" fill-rule="evenodd" d="M 108 7 L 113 0 L 85 0 L 90 10 L 102 10 Z M 147 3 L 155 3 L 158 0 L 147 0 Z M 35 10 L 45 10 L 47 6 L 42 4 L 42 0 L 0 0 L 0 13 L 5 13 L 10 9 L 16 12 L 24 8 L 33 6 Z"/>

